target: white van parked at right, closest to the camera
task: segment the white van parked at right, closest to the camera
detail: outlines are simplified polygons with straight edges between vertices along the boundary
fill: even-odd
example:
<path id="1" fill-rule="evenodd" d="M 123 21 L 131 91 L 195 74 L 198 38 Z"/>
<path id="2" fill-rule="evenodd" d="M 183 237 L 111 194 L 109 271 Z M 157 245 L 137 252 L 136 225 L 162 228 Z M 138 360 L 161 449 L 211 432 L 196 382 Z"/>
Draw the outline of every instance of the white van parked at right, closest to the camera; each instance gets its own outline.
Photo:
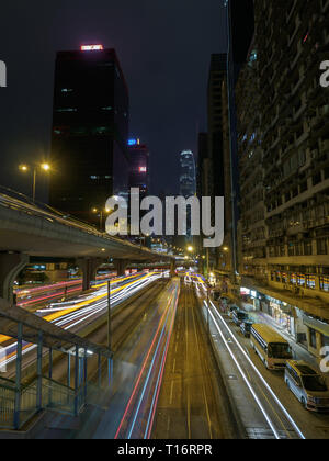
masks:
<path id="1" fill-rule="evenodd" d="M 308 363 L 288 360 L 285 367 L 284 381 L 306 409 L 318 413 L 329 412 L 327 383 Z"/>

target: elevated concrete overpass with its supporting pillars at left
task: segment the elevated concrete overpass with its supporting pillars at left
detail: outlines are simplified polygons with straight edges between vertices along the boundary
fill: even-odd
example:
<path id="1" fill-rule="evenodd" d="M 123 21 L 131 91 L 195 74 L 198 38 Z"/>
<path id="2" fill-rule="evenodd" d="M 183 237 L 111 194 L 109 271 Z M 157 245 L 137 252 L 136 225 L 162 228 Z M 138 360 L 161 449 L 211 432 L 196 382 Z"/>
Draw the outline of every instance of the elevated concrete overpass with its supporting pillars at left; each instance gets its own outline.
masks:
<path id="1" fill-rule="evenodd" d="M 38 207 L 24 196 L 0 193 L 0 299 L 12 301 L 13 282 L 31 256 L 75 258 L 83 273 L 84 290 L 109 258 L 118 274 L 129 262 L 174 265 L 171 256 L 111 237 L 89 224 Z"/>

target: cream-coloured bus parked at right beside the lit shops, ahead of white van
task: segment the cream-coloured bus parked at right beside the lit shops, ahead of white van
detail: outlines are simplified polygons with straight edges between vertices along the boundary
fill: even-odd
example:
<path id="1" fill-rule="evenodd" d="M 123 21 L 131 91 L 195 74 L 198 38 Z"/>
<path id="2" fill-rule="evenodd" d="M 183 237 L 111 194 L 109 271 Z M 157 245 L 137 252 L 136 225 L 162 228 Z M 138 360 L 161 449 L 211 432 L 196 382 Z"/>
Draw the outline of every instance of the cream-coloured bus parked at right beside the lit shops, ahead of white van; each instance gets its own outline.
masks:
<path id="1" fill-rule="evenodd" d="M 268 370 L 284 370 L 286 361 L 293 358 L 288 341 L 269 325 L 253 324 L 250 341 Z"/>

